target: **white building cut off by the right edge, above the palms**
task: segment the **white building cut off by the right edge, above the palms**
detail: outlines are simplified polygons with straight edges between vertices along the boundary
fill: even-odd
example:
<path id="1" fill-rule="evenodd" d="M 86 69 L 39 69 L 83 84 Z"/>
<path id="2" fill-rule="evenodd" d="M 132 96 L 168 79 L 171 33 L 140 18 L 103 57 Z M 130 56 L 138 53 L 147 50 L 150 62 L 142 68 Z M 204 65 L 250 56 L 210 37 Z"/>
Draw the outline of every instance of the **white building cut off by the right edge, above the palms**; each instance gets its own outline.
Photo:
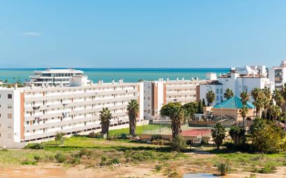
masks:
<path id="1" fill-rule="evenodd" d="M 275 83 L 275 88 L 280 89 L 286 82 L 286 61 L 281 61 L 280 66 L 269 69 L 269 80 Z"/>

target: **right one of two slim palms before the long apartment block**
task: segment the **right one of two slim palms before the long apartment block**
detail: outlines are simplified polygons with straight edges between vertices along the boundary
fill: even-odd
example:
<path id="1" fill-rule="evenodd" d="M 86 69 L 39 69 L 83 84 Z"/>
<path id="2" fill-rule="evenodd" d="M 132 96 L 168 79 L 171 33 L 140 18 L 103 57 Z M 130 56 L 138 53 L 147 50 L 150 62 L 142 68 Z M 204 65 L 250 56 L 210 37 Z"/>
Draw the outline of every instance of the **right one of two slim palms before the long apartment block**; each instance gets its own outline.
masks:
<path id="1" fill-rule="evenodd" d="M 129 101 L 127 111 L 129 116 L 129 134 L 135 136 L 136 118 L 139 114 L 139 104 L 137 100 Z"/>

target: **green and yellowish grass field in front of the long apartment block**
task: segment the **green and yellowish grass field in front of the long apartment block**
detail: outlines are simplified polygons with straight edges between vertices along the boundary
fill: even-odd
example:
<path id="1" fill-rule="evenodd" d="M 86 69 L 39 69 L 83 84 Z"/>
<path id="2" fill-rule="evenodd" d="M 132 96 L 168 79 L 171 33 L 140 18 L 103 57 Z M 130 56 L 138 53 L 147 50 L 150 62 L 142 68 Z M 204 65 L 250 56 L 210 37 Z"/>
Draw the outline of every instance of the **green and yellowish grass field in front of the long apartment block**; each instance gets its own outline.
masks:
<path id="1" fill-rule="evenodd" d="M 144 130 L 158 129 L 159 125 L 144 125 L 137 127 L 137 134 Z M 110 134 L 128 134 L 128 128 L 112 130 Z M 128 139 L 109 141 L 92 139 L 87 136 L 72 136 L 67 138 L 63 145 L 56 145 L 53 141 L 44 144 L 42 150 L 1 150 L 0 165 L 21 165 L 23 163 L 57 163 L 56 154 L 65 158 L 65 165 L 82 164 L 87 167 L 96 165 L 108 166 L 112 163 L 136 163 L 144 161 L 151 165 L 165 165 L 166 161 L 173 161 L 176 165 L 207 166 L 214 165 L 221 160 L 229 160 L 233 164 L 233 171 L 244 170 L 251 172 L 267 164 L 286 166 L 284 153 L 280 154 L 249 154 L 229 152 L 226 149 L 212 150 L 209 147 L 201 150 L 189 150 L 191 154 L 170 152 L 169 146 L 135 143 Z M 208 153 L 207 157 L 196 151 Z M 194 152 L 194 154 L 192 154 Z M 37 160 L 37 158 L 39 158 Z M 153 165 L 154 166 L 154 165 Z"/>

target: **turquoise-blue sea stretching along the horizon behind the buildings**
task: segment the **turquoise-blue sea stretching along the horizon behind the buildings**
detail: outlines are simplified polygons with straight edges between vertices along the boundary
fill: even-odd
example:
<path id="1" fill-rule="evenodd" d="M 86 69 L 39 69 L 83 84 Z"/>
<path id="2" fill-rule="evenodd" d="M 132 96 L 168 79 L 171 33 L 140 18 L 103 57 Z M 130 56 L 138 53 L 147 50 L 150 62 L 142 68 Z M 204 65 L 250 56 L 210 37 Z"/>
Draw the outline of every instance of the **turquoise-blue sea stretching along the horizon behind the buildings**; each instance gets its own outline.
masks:
<path id="1" fill-rule="evenodd" d="M 227 73 L 228 68 L 126 68 L 126 69 L 94 69 L 94 68 L 78 68 L 84 71 L 85 75 L 90 80 L 97 82 L 103 80 L 103 82 L 111 82 L 112 79 L 117 81 L 119 78 L 123 78 L 124 82 L 137 82 L 138 80 L 158 80 L 158 78 L 169 78 L 175 80 L 176 78 L 190 78 L 205 79 L 205 73 L 213 72 Z M 35 70 L 44 70 L 43 68 L 29 68 L 29 69 L 0 69 L 0 80 L 8 80 L 9 82 L 15 82 L 21 80 L 24 82 L 28 80 L 30 75 L 33 75 Z"/>

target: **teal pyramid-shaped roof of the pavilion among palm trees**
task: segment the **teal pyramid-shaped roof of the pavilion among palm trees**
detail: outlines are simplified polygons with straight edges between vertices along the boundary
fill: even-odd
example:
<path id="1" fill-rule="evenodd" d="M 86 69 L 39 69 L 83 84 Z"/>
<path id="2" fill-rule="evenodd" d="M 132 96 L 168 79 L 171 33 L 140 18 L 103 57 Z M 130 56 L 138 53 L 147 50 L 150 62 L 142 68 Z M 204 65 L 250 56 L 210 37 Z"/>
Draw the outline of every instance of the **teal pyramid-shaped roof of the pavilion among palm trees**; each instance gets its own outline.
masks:
<path id="1" fill-rule="evenodd" d="M 253 109 L 254 105 L 250 102 L 246 103 L 246 107 L 249 109 Z M 225 100 L 217 105 L 215 105 L 213 108 L 216 109 L 242 109 L 242 99 L 238 96 L 233 96 L 232 98 L 229 98 L 228 100 Z"/>

